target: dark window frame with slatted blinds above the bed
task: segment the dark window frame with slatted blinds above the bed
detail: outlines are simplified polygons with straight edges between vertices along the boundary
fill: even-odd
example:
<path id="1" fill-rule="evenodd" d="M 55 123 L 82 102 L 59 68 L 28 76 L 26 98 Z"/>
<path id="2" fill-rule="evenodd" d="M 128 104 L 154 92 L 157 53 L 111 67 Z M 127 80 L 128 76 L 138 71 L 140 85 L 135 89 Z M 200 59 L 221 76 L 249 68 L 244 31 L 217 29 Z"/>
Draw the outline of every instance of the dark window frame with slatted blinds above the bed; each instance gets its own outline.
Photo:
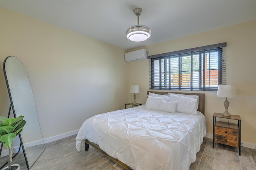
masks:
<path id="1" fill-rule="evenodd" d="M 219 43 L 219 44 L 214 44 L 214 45 L 207 45 L 203 47 L 196 47 L 192 49 L 185 49 L 185 50 L 180 50 L 180 51 L 174 51 L 174 52 L 169 52 L 169 53 L 163 53 L 163 54 L 158 54 L 158 55 L 152 55 L 148 56 L 150 59 L 150 89 L 151 90 L 201 90 L 201 91 L 217 91 L 218 90 L 218 85 L 219 84 L 226 84 L 226 55 L 225 55 L 225 47 L 226 43 Z M 198 70 L 193 69 L 193 59 L 195 54 L 198 54 L 198 58 L 195 58 L 198 60 Z M 208 58 L 206 56 L 208 54 Z M 210 54 L 218 54 L 218 61 L 216 61 L 216 56 L 211 57 Z M 190 55 L 190 70 L 189 71 L 184 71 L 182 70 L 182 56 L 189 56 Z M 202 56 L 201 56 L 202 55 Z M 171 76 L 173 76 L 171 72 L 171 62 L 170 60 L 178 57 L 178 86 L 174 86 L 172 84 Z M 208 61 L 206 60 L 208 59 Z M 203 60 L 203 61 L 200 61 Z M 211 61 L 213 60 L 213 61 Z M 155 76 L 154 72 L 154 62 L 158 61 L 158 79 Z M 162 71 L 162 61 L 164 61 L 164 68 Z M 195 61 L 197 62 L 197 61 Z M 212 63 L 211 63 L 212 62 Z M 218 65 L 216 66 L 216 64 Z M 166 66 L 166 64 L 169 64 Z M 189 64 L 187 64 L 188 66 Z M 213 65 L 213 66 L 212 66 Z M 208 66 L 209 68 L 205 68 Z M 211 69 L 210 67 L 213 67 L 214 69 Z M 216 68 L 217 67 L 217 68 Z M 215 71 L 211 71 L 215 70 Z M 217 70 L 217 71 L 216 71 Z M 182 72 L 188 72 L 186 74 L 182 74 Z M 194 76 L 194 72 L 198 72 L 198 76 Z M 211 75 L 212 73 L 218 72 L 218 78 L 216 75 Z M 185 77 L 182 79 L 182 76 Z M 186 76 L 188 77 L 186 80 Z M 168 77 L 168 78 L 166 78 Z M 196 78 L 194 80 L 193 78 Z M 206 80 L 208 78 L 208 80 Z M 211 79 L 211 78 L 217 78 Z M 166 80 L 168 83 L 166 83 Z M 177 80 L 177 79 L 176 79 Z M 183 84 L 190 84 L 190 85 L 182 85 L 182 80 Z M 164 81 L 164 84 L 163 84 Z M 190 82 L 189 82 L 190 81 Z M 216 81 L 218 81 L 218 84 L 216 84 Z M 155 84 L 158 84 L 156 86 Z M 168 84 L 168 85 L 166 85 Z M 177 84 L 177 81 L 176 81 Z M 194 85 L 196 84 L 196 86 Z M 197 85 L 198 84 L 198 85 Z"/>

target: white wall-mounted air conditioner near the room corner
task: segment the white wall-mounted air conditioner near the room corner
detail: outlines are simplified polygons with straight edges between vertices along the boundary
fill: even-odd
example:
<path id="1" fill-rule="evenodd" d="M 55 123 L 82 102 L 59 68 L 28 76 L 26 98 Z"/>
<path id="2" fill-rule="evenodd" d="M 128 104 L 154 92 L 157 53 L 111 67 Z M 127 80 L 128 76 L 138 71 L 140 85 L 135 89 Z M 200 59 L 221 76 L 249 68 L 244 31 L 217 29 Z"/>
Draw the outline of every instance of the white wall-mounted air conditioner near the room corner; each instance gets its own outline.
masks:
<path id="1" fill-rule="evenodd" d="M 124 59 L 127 62 L 141 61 L 148 59 L 148 50 L 140 49 L 124 54 Z"/>

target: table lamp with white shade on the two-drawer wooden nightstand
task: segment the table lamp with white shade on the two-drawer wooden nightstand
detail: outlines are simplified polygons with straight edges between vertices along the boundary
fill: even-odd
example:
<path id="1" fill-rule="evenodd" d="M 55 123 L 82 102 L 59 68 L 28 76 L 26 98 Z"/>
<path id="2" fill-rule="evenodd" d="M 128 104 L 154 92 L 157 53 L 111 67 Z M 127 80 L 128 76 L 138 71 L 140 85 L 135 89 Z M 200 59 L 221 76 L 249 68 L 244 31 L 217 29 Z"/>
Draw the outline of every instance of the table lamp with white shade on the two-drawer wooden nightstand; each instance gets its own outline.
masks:
<path id="1" fill-rule="evenodd" d="M 227 116 L 227 117 L 231 116 L 230 113 L 228 113 L 228 106 L 229 106 L 228 98 L 236 97 L 236 88 L 232 85 L 221 84 L 218 86 L 217 97 L 226 98 L 226 100 L 224 102 L 224 107 L 225 107 L 226 111 L 224 111 L 224 113 L 222 113 L 222 115 Z"/>

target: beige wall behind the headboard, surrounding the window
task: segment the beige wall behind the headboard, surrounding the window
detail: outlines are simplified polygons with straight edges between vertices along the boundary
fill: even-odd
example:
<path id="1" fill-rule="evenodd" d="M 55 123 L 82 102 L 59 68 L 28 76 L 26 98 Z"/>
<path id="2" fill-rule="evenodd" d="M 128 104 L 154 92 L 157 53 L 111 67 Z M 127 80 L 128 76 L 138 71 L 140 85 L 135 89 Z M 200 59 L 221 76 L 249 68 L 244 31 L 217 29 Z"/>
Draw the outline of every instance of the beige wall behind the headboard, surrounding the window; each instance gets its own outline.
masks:
<path id="1" fill-rule="evenodd" d="M 247 146 L 252 144 L 249 147 L 255 147 L 256 20 L 143 48 L 148 49 L 149 55 L 156 55 L 223 42 L 227 42 L 227 84 L 233 84 L 237 89 L 237 97 L 228 99 L 230 102 L 228 111 L 231 114 L 240 115 L 242 119 L 241 139 Z M 129 63 L 129 72 L 130 84 L 140 85 L 140 94 L 137 95 L 136 101 L 145 103 L 146 91 L 149 88 L 149 61 Z M 207 133 L 211 136 L 212 114 L 224 112 L 223 102 L 225 98 L 216 97 L 217 92 L 199 92 L 205 93 Z M 128 98 L 132 101 L 131 94 Z"/>

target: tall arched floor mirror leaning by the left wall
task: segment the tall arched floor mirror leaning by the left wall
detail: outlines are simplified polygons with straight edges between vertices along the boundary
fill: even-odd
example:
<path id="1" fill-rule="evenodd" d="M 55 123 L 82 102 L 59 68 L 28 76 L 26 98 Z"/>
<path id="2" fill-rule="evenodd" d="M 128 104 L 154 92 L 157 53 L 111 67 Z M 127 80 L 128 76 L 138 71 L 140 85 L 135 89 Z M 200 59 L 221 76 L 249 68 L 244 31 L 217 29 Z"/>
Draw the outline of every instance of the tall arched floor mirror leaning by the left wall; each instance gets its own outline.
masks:
<path id="1" fill-rule="evenodd" d="M 28 72 L 24 64 L 14 56 L 4 60 L 3 68 L 14 117 L 24 115 L 26 120 L 26 125 L 20 134 L 20 142 L 27 168 L 30 169 L 44 151 L 45 145 Z"/>

